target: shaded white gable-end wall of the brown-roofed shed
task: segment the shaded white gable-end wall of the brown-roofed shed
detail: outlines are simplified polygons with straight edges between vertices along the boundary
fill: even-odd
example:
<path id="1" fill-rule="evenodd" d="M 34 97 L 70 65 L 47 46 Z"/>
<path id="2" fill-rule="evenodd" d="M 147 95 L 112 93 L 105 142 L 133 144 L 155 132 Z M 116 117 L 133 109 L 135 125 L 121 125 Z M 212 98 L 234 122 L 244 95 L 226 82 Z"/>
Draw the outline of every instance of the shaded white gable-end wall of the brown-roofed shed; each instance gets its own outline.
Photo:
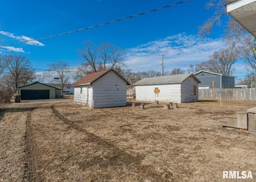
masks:
<path id="1" fill-rule="evenodd" d="M 110 71 L 93 83 L 94 108 L 126 106 L 126 81 Z"/>

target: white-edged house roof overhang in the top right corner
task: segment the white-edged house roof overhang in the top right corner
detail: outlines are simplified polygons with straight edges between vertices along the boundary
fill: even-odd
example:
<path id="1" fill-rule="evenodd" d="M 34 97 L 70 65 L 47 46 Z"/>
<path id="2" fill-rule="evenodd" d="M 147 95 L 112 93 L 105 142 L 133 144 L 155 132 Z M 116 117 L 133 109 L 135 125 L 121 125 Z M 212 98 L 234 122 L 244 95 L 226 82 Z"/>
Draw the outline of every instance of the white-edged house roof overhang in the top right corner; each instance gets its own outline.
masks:
<path id="1" fill-rule="evenodd" d="M 256 37 L 256 0 L 236 0 L 226 7 L 228 14 Z"/>

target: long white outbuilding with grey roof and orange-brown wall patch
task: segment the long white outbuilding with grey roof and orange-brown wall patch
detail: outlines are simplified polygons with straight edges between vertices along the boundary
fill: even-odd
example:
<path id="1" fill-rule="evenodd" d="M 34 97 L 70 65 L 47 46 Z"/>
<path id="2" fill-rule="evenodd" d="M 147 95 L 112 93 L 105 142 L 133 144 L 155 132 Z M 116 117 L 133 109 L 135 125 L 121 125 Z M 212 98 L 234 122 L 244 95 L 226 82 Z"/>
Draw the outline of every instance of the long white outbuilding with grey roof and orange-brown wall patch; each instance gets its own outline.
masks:
<path id="1" fill-rule="evenodd" d="M 198 101 L 198 83 L 200 80 L 194 74 L 143 78 L 134 83 L 136 100 L 196 102 Z"/>

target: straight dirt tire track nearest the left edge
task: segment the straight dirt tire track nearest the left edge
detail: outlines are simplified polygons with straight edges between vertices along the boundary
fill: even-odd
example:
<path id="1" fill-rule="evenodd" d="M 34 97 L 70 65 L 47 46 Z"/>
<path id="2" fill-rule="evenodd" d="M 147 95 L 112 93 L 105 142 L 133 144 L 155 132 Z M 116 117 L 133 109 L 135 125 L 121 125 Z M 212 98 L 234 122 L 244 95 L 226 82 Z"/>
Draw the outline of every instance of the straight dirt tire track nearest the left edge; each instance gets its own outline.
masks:
<path id="1" fill-rule="evenodd" d="M 37 159 L 38 154 L 36 145 L 34 144 L 32 134 L 32 112 L 35 108 L 30 108 L 30 112 L 27 114 L 26 119 L 26 133 L 25 138 L 25 163 L 24 163 L 24 174 L 23 181 L 42 182 L 44 181 L 44 174 L 42 173 L 42 166 L 38 165 Z"/>

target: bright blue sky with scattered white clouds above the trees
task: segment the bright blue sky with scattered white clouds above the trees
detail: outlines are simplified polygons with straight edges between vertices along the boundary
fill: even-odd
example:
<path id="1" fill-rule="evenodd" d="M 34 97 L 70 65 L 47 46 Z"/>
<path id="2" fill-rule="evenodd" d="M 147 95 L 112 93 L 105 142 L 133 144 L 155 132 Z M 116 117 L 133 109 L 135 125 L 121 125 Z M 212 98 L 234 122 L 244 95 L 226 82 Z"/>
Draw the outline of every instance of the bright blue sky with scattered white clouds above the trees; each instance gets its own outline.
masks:
<path id="1" fill-rule="evenodd" d="M 1 44 L 10 44 L 37 39 L 110 22 L 176 2 L 180 0 L 4 1 L 0 6 L 0 40 Z M 225 46 L 219 39 L 223 37 L 225 22 L 221 27 L 215 27 L 205 39 L 197 35 L 198 26 L 213 14 L 211 10 L 204 9 L 206 2 L 190 0 L 101 27 L 40 41 L 6 45 L 0 47 L 0 52 L 12 50 L 13 53 L 22 54 L 32 61 L 36 72 L 41 72 L 50 61 L 66 61 L 76 66 L 82 61 L 78 57 L 78 50 L 84 41 L 89 40 L 96 44 L 108 42 L 124 49 L 125 63 L 132 71 L 161 71 L 162 55 L 165 71 L 171 71 L 174 67 L 187 70 L 191 63 L 207 61 L 214 51 Z M 180 48 L 193 44 L 198 45 Z M 160 51 L 165 52 L 157 53 Z M 156 54 L 140 57 L 151 53 Z M 233 75 L 242 78 L 243 63 L 236 63 L 235 68 Z"/>

